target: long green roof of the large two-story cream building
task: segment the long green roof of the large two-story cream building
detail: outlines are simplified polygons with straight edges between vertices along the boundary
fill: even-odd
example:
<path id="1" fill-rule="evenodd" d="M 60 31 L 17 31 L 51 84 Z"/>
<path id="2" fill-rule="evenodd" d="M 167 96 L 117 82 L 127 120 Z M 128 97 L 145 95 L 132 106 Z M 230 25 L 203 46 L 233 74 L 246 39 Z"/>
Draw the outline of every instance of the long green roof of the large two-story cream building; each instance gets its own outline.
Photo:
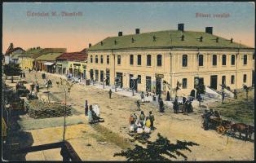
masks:
<path id="1" fill-rule="evenodd" d="M 183 41 L 181 37 L 183 35 Z M 153 40 L 155 37 L 155 41 Z M 200 37 L 203 37 L 200 42 Z M 90 46 L 88 51 L 98 50 L 118 50 L 118 49 L 131 49 L 131 48 L 244 48 L 253 49 L 252 47 L 241 45 L 236 42 L 231 42 L 230 39 L 218 37 L 218 42 L 213 34 L 194 31 L 179 31 L 179 30 L 166 30 L 151 33 L 140 33 L 124 35 L 119 37 L 107 37 L 94 46 Z M 134 39 L 134 42 L 132 42 Z M 116 41 L 116 44 L 115 44 Z"/>

